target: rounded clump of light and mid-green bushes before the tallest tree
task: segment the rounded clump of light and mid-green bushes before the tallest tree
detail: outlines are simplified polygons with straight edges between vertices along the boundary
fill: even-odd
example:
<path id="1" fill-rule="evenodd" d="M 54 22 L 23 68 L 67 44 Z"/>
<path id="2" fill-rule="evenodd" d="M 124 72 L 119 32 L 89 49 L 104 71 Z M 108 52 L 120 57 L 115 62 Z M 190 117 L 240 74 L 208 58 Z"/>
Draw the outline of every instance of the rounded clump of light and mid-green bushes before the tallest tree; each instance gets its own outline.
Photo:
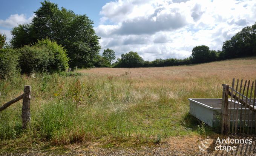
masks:
<path id="1" fill-rule="evenodd" d="M 55 72 L 68 68 L 66 50 L 48 39 L 39 40 L 33 46 L 24 46 L 19 49 L 21 56 L 19 66 L 22 73 Z"/>

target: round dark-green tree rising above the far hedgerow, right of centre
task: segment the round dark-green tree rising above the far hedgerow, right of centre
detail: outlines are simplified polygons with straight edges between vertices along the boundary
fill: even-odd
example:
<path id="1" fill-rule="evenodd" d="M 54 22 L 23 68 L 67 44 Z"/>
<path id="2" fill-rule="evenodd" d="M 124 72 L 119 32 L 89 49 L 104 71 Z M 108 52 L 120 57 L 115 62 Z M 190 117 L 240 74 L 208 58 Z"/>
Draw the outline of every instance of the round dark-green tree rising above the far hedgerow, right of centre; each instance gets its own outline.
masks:
<path id="1" fill-rule="evenodd" d="M 195 46 L 192 49 L 192 61 L 193 63 L 210 62 L 210 51 L 206 45 Z"/>

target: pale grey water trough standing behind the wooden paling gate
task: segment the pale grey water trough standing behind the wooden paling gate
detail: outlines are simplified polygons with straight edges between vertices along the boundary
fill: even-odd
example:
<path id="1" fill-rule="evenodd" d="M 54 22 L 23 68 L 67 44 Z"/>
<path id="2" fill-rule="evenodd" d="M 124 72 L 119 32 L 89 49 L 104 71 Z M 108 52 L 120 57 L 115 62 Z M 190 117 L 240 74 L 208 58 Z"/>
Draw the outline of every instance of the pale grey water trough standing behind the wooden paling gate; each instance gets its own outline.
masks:
<path id="1" fill-rule="evenodd" d="M 217 127 L 220 124 L 220 114 L 221 114 L 221 106 L 222 106 L 222 99 L 189 99 L 190 101 L 190 114 L 194 117 L 198 118 L 201 121 L 204 121 L 204 123 L 208 124 L 211 127 Z M 241 103 L 238 104 L 236 102 L 235 109 L 234 104 L 230 102 L 229 99 L 229 105 L 231 104 L 231 115 L 230 115 L 230 124 L 233 123 L 233 114 L 234 114 L 234 120 L 236 118 L 236 108 L 238 108 L 238 127 L 240 124 L 240 114 L 242 109 L 242 124 L 244 122 L 244 113 L 246 109 L 246 114 L 249 113 L 249 109 L 245 108 Z M 237 107 L 238 105 L 238 107 Z M 250 111 L 250 114 L 252 111 Z M 249 115 L 251 116 L 251 115 Z M 251 117 L 245 118 L 245 123 L 253 122 L 253 127 L 255 125 L 255 115 L 253 115 L 253 119 L 251 120 Z"/>

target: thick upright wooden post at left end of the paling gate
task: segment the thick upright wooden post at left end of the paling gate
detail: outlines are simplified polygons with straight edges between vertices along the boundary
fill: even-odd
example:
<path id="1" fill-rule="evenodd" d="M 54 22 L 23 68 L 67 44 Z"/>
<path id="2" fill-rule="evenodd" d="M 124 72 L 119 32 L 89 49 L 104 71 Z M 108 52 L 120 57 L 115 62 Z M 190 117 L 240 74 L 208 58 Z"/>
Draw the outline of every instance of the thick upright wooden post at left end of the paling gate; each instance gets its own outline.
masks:
<path id="1" fill-rule="evenodd" d="M 227 84 L 222 84 L 222 107 L 221 107 L 221 134 L 227 135 L 229 126 L 228 126 L 228 92 L 229 86 Z"/>

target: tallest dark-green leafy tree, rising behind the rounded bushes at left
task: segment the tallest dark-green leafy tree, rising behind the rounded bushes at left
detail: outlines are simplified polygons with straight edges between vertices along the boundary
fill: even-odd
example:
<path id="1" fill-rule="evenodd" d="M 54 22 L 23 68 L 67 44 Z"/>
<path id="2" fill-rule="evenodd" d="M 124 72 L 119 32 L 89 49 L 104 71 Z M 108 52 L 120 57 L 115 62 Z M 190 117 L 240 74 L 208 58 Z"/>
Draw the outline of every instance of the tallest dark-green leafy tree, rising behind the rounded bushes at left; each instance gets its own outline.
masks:
<path id="1" fill-rule="evenodd" d="M 67 49 L 70 66 L 89 68 L 97 62 L 99 39 L 93 29 L 94 23 L 86 15 L 77 15 L 48 0 L 41 2 L 31 24 L 14 27 L 11 31 L 14 47 L 21 47 L 37 39 L 51 39 Z"/>

